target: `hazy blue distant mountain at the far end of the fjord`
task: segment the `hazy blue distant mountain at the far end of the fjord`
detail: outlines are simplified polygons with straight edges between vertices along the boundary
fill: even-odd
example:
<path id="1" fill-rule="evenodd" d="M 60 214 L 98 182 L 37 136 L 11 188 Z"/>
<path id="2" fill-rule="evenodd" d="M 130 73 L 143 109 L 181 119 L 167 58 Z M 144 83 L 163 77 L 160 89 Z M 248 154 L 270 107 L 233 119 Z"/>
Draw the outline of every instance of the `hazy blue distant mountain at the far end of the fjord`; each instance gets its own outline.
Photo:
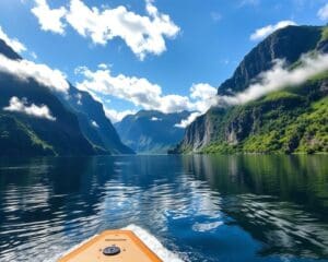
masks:
<path id="1" fill-rule="evenodd" d="M 166 154 L 167 150 L 184 136 L 185 130 L 175 124 L 189 115 L 188 111 L 163 114 L 155 110 L 141 110 L 125 117 L 120 122 L 115 123 L 115 128 L 122 142 L 137 153 Z"/>

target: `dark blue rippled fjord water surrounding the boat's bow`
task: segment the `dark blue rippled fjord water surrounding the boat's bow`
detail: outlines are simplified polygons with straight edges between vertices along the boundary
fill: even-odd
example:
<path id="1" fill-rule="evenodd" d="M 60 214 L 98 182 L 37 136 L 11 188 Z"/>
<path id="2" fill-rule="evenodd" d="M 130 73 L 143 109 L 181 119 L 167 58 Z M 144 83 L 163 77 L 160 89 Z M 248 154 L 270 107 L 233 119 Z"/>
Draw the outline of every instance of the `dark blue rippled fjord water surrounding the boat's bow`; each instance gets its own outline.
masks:
<path id="1" fill-rule="evenodd" d="M 328 156 L 0 160 L 0 261 L 128 225 L 184 261 L 328 261 Z"/>

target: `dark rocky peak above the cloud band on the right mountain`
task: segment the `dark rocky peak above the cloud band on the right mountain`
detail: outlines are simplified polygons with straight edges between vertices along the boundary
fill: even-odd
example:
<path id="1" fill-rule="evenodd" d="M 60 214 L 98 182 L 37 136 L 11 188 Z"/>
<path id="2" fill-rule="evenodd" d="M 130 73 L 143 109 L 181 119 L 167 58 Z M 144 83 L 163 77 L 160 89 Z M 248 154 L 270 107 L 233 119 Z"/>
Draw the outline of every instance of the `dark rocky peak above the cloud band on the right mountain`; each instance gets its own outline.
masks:
<path id="1" fill-rule="evenodd" d="M 260 72 L 272 68 L 274 59 L 284 59 L 288 63 L 296 62 L 301 55 L 316 48 L 321 38 L 319 26 L 289 26 L 277 31 L 241 62 L 233 76 L 218 90 L 220 95 L 245 90 Z"/>

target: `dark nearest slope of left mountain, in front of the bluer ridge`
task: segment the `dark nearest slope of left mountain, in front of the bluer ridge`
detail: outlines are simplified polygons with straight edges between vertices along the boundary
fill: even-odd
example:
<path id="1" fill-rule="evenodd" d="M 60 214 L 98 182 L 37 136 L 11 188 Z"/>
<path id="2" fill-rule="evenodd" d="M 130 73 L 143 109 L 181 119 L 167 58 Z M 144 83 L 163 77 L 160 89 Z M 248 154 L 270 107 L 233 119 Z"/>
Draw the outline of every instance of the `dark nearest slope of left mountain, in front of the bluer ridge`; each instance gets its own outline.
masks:
<path id="1" fill-rule="evenodd" d="M 22 81 L 0 73 L 1 155 L 92 155 L 94 150 L 80 131 L 78 118 L 49 88 L 33 79 Z M 47 105 L 56 121 L 7 111 L 12 97 Z"/>

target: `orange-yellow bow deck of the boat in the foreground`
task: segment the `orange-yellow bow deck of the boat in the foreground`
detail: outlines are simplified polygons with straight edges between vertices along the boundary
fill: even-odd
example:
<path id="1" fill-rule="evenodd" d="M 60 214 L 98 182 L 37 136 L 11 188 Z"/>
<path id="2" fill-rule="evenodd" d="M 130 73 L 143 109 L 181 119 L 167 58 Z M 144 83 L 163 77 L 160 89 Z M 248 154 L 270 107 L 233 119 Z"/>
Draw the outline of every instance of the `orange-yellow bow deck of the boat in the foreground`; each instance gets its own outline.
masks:
<path id="1" fill-rule="evenodd" d="M 120 253 L 105 255 L 107 247 L 118 247 Z M 86 241 L 58 262 L 162 262 L 132 231 L 108 230 Z"/>

